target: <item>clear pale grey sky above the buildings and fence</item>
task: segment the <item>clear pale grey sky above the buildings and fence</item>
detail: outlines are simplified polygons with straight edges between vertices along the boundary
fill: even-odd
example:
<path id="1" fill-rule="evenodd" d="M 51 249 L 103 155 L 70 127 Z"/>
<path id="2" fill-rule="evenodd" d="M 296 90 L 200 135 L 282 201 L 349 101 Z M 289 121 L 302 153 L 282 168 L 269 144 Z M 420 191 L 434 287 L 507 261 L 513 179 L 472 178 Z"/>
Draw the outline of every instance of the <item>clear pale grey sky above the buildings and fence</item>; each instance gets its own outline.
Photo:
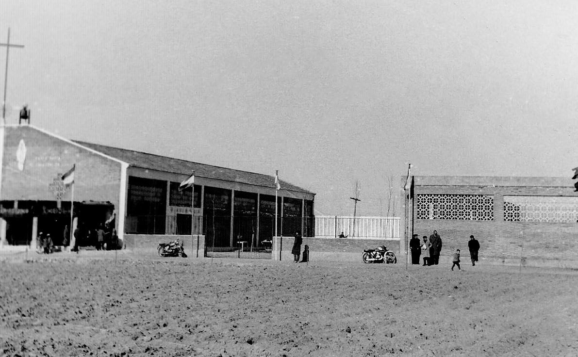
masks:
<path id="1" fill-rule="evenodd" d="M 572 176 L 576 18 L 571 0 L 8 0 L 6 122 L 28 103 L 69 139 L 279 170 L 317 215 L 353 215 L 357 183 L 357 215 L 399 216 L 408 163 Z"/>

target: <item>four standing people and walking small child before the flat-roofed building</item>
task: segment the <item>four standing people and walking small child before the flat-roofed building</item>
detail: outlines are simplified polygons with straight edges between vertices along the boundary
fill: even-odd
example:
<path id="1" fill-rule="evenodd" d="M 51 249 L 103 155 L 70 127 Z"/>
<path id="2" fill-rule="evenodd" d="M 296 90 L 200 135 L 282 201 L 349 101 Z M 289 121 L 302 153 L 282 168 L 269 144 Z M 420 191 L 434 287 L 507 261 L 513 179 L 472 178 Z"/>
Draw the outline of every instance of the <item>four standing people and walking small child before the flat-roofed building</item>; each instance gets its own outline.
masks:
<path id="1" fill-rule="evenodd" d="M 423 256 L 424 266 L 438 265 L 439 254 L 442 251 L 442 237 L 439 236 L 437 230 L 434 230 L 429 238 L 428 236 L 423 236 L 423 241 L 420 241 L 418 235 L 413 235 L 412 239 L 409 241 L 409 248 L 412 252 L 412 264 L 420 264 L 420 256 Z M 477 254 L 480 250 L 480 243 L 473 235 L 470 235 L 468 250 L 472 266 L 475 266 L 477 262 Z M 459 249 L 457 249 L 452 255 L 452 263 L 451 270 L 454 270 L 454 267 L 456 266 L 461 270 Z"/>

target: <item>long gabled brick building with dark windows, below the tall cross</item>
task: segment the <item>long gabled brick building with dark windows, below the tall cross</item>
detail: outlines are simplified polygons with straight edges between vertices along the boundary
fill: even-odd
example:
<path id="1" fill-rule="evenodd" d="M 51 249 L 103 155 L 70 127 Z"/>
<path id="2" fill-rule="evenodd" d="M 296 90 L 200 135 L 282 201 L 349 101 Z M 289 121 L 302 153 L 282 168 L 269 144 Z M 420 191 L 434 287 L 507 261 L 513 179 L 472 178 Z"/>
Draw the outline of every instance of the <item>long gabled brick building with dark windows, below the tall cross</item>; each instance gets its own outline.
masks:
<path id="1" fill-rule="evenodd" d="M 271 175 L 75 142 L 32 125 L 0 127 L 0 159 L 1 244 L 30 244 L 38 232 L 60 243 L 72 199 L 60 177 L 73 165 L 73 229 L 113 220 L 120 239 L 199 233 L 218 247 L 258 246 L 275 233 L 277 193 L 278 233 L 313 235 L 315 194 L 286 181 L 276 191 Z M 180 192 L 192 171 L 194 187 Z"/>

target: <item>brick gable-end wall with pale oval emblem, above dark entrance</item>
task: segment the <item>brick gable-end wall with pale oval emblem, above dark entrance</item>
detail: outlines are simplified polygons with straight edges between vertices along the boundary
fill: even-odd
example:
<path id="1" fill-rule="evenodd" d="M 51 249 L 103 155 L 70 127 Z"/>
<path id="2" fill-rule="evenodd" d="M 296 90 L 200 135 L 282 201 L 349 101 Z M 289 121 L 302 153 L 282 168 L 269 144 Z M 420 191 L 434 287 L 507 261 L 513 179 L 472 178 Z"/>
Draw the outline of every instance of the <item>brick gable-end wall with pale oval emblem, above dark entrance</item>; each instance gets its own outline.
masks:
<path id="1" fill-rule="evenodd" d="M 76 202 L 109 201 L 118 210 L 121 165 L 28 126 L 7 127 L 2 159 L 2 200 L 56 200 L 50 184 L 76 164 Z M 23 170 L 16 151 L 26 147 Z M 62 200 L 71 199 L 71 189 Z"/>

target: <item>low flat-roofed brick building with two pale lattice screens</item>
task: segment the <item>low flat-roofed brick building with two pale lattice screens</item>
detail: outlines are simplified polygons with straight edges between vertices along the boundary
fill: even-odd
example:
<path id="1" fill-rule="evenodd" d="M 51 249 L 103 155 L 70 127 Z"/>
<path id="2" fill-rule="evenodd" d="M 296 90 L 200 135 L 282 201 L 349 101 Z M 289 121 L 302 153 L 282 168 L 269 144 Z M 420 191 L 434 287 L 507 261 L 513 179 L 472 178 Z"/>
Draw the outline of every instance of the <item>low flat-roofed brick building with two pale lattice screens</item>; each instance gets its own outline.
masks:
<path id="1" fill-rule="evenodd" d="M 442 256 L 460 248 L 467 261 L 474 235 L 487 259 L 576 260 L 578 195 L 570 177 L 413 178 L 409 231 L 421 238 L 438 230 Z"/>

